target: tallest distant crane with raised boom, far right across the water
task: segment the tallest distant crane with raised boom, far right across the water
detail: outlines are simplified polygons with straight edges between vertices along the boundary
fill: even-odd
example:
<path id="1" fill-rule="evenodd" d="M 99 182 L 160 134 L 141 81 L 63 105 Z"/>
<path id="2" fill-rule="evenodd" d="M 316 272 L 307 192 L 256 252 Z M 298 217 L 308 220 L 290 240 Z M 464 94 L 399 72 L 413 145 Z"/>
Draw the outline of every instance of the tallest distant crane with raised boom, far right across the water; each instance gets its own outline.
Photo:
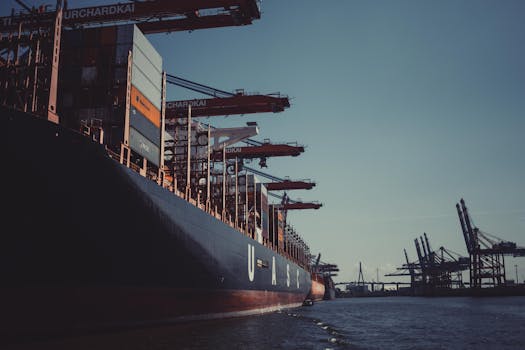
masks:
<path id="1" fill-rule="evenodd" d="M 461 231 L 470 255 L 470 285 L 481 288 L 506 284 L 505 256 L 525 256 L 525 248 L 505 241 L 474 226 L 465 201 L 456 203 Z"/>

